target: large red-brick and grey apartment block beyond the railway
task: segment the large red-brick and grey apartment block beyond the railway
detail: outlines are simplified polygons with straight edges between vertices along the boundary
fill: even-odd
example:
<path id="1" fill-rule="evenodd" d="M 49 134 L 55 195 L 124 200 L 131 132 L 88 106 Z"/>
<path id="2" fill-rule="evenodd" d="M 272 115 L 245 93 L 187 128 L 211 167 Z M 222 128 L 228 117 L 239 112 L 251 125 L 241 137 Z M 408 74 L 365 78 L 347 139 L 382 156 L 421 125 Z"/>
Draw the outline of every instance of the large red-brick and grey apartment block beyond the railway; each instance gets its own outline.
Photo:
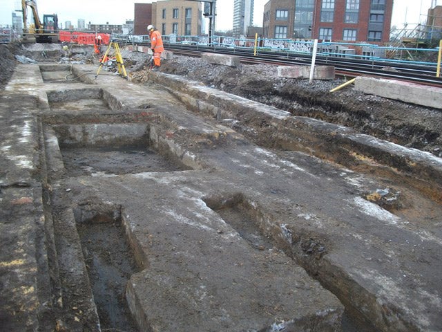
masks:
<path id="1" fill-rule="evenodd" d="M 388 42 L 393 0 L 270 0 L 266 38 Z"/>

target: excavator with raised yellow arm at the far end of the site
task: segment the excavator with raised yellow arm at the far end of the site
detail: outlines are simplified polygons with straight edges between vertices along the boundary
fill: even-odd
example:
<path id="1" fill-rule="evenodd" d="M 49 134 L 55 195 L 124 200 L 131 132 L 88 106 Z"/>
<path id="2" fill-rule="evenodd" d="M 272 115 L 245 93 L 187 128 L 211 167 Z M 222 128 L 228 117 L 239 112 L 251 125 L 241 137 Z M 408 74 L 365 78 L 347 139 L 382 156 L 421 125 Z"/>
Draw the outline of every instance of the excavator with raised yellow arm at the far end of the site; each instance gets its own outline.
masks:
<path id="1" fill-rule="evenodd" d="M 28 8 L 32 10 L 34 24 L 28 27 Z M 21 0 L 23 10 L 23 42 L 52 43 L 59 41 L 59 27 L 57 14 L 43 15 L 43 23 L 39 19 L 37 2 L 35 0 Z"/>

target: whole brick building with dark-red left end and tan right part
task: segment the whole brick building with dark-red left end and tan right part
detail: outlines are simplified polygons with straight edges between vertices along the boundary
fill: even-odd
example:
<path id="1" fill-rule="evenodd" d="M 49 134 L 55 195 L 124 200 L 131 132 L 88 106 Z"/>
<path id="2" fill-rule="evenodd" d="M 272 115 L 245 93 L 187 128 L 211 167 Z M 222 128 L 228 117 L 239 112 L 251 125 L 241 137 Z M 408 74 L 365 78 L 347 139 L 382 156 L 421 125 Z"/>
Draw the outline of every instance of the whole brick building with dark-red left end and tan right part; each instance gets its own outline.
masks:
<path id="1" fill-rule="evenodd" d="M 147 35 L 149 24 L 162 35 L 201 35 L 202 10 L 198 1 L 135 3 L 134 17 L 134 35 Z"/>

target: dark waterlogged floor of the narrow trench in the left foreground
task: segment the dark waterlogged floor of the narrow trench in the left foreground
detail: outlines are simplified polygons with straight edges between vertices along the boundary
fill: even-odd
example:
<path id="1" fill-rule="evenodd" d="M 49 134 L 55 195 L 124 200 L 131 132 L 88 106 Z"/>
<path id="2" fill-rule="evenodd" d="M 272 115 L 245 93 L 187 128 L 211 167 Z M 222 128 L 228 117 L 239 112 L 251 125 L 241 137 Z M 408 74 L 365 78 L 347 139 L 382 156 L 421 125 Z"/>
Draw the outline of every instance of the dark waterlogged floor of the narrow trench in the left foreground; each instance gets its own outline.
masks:
<path id="1" fill-rule="evenodd" d="M 136 332 L 125 289 L 137 266 L 122 223 L 106 214 L 86 215 L 91 219 L 77 221 L 77 230 L 102 331 Z"/>

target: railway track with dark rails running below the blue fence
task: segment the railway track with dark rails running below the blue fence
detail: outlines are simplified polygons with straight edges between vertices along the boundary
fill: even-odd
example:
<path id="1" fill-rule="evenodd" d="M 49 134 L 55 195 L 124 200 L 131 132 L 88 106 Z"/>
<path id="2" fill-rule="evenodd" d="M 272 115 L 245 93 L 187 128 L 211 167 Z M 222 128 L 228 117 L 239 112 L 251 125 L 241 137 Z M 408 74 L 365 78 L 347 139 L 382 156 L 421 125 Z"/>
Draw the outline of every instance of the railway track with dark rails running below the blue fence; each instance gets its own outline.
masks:
<path id="1" fill-rule="evenodd" d="M 275 64 L 278 66 L 311 64 L 311 55 L 301 53 L 260 51 L 257 55 L 253 55 L 253 50 L 238 48 L 186 45 L 166 45 L 165 47 L 177 55 L 190 57 L 200 57 L 202 53 L 206 52 L 238 55 L 244 64 Z M 419 63 L 404 64 L 401 62 L 387 62 L 382 59 L 367 60 L 318 55 L 316 65 L 334 66 L 337 75 L 347 77 L 365 75 L 442 87 L 442 77 L 436 77 L 436 66 Z"/>

